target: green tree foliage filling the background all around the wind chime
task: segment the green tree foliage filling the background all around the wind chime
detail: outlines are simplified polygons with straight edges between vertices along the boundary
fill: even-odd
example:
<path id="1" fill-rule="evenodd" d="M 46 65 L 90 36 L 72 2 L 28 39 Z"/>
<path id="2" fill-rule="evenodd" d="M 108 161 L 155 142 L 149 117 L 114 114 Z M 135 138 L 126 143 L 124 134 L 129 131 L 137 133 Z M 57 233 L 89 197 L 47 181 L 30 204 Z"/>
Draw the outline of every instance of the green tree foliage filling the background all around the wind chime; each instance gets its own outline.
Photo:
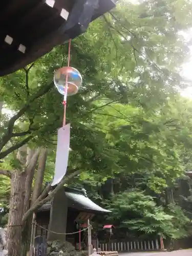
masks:
<path id="1" fill-rule="evenodd" d="M 73 40 L 71 66 L 81 72 L 83 86 L 68 98 L 68 175 L 80 171 L 68 185 L 85 187 L 113 211 L 108 221 L 132 236 L 188 234 L 189 216 L 170 194 L 191 168 L 191 101 L 178 93 L 190 84 L 180 76 L 190 44 L 180 32 L 191 27 L 191 7 L 187 0 L 121 2 Z M 52 179 L 63 115 L 53 74 L 66 62 L 64 44 L 1 78 L 0 96 L 11 111 L 1 115 L 1 169 L 22 169 L 21 146 L 44 147 L 44 182 Z M 2 207 L 9 189 L 1 176 Z"/>

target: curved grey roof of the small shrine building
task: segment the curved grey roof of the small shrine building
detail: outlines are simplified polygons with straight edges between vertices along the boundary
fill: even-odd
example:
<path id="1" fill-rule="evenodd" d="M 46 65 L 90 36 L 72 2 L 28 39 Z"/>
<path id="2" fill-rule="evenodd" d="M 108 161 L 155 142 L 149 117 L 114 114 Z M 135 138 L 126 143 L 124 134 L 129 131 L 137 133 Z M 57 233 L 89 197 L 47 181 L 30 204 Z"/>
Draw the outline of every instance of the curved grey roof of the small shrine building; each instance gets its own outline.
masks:
<path id="1" fill-rule="evenodd" d="M 94 203 L 91 199 L 87 197 L 86 194 L 83 193 L 83 191 L 79 189 L 74 188 L 65 188 L 64 192 L 68 199 L 68 207 L 77 209 L 77 210 L 83 210 L 86 212 L 93 212 L 95 214 L 106 214 L 111 212 L 110 210 L 103 209 L 96 203 Z M 50 210 L 51 208 L 51 202 L 47 202 L 46 204 L 42 205 L 39 209 L 39 211 L 46 211 Z"/>

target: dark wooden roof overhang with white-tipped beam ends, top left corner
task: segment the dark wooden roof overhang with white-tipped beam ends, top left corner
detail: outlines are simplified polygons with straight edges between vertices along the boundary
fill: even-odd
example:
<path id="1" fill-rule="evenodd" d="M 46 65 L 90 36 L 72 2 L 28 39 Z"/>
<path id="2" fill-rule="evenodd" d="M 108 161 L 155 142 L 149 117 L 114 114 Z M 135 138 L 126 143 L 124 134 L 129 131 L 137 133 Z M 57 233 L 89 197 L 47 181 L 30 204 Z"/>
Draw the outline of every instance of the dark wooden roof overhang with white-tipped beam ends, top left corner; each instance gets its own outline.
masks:
<path id="1" fill-rule="evenodd" d="M 113 0 L 2 0 L 0 76 L 77 37 L 114 7 Z"/>

